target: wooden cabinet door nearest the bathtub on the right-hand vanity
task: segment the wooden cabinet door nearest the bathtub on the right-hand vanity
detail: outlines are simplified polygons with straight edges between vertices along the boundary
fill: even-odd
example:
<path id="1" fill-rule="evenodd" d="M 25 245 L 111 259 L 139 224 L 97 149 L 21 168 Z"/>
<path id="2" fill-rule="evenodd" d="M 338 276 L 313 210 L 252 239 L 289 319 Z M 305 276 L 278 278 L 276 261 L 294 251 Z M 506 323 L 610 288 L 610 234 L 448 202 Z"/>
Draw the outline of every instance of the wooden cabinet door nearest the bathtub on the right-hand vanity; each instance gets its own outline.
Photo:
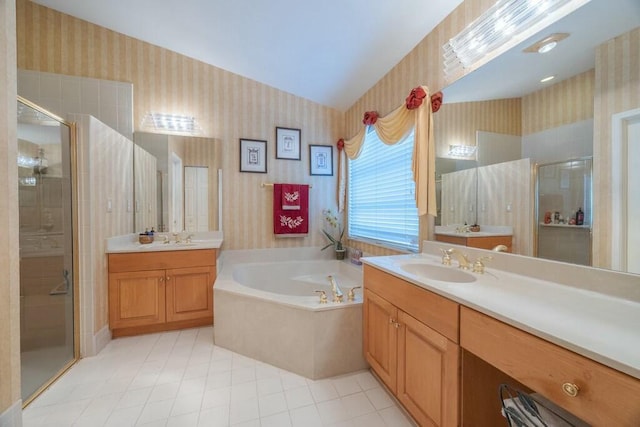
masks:
<path id="1" fill-rule="evenodd" d="M 364 356 L 391 391 L 396 391 L 397 315 L 394 305 L 365 289 L 363 304 Z"/>

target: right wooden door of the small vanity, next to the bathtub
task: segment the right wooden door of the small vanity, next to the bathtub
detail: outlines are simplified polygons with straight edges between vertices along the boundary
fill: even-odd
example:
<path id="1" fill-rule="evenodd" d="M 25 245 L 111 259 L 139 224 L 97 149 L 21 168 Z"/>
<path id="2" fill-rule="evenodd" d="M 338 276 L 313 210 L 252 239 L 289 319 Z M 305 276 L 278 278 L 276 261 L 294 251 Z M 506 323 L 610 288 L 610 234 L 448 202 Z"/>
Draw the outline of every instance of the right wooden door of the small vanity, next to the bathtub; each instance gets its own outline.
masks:
<path id="1" fill-rule="evenodd" d="M 215 268 L 190 267 L 167 270 L 167 321 L 211 318 Z"/>

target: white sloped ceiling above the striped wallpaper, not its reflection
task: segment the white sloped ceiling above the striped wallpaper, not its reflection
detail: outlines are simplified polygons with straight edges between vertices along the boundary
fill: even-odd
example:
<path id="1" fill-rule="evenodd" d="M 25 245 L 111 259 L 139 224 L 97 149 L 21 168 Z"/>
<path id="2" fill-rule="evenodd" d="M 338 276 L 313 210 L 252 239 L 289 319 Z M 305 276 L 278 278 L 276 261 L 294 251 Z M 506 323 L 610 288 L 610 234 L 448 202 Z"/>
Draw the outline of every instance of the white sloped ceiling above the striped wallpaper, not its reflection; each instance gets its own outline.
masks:
<path id="1" fill-rule="evenodd" d="M 461 1 L 35 0 L 341 111 Z"/>

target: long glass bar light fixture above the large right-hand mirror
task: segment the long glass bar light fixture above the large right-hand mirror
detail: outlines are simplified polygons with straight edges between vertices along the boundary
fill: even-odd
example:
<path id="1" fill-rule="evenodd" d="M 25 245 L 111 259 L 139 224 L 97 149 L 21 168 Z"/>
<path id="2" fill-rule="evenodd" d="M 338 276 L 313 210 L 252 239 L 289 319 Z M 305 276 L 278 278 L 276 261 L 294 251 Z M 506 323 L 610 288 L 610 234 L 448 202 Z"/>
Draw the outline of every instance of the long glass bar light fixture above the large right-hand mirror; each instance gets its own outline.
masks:
<path id="1" fill-rule="evenodd" d="M 498 0 L 444 46 L 448 83 L 475 70 L 590 0 Z"/>

